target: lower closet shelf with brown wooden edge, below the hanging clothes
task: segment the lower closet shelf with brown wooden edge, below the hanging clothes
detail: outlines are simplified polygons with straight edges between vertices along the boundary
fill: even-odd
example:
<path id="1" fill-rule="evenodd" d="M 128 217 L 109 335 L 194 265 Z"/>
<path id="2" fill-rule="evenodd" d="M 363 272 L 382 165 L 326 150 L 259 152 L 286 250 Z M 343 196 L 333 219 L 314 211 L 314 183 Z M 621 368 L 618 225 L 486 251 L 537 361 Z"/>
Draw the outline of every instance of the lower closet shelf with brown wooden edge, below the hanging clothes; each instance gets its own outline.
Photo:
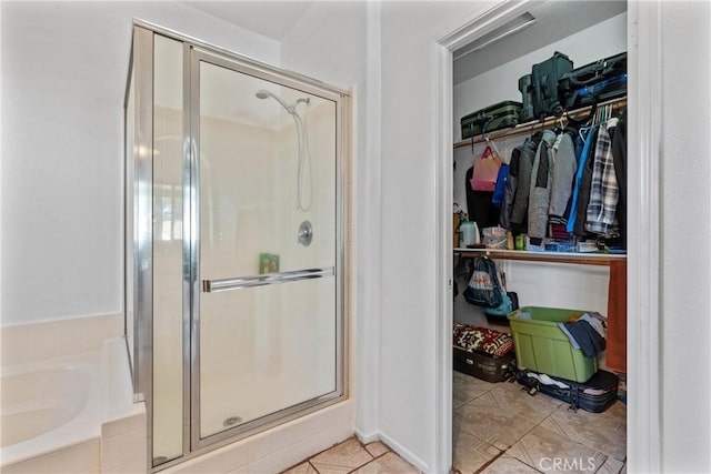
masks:
<path id="1" fill-rule="evenodd" d="M 499 260 L 519 260 L 527 262 L 575 263 L 579 265 L 609 266 L 610 262 L 624 262 L 627 254 L 620 253 L 572 253 L 572 252 L 530 252 L 525 250 L 504 249 L 462 249 L 455 248 L 454 253 L 463 258 L 473 259 L 485 255 Z"/>

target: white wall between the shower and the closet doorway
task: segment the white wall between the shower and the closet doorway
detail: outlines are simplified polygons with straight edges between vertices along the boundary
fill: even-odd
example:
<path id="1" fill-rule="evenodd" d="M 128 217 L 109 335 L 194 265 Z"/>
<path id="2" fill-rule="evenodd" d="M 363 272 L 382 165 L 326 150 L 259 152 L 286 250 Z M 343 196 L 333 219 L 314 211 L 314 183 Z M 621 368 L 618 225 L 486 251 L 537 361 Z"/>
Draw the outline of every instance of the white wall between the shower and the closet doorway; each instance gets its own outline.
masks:
<path id="1" fill-rule="evenodd" d="M 493 2 L 382 3 L 380 428 L 435 468 L 437 194 L 434 40 Z"/>

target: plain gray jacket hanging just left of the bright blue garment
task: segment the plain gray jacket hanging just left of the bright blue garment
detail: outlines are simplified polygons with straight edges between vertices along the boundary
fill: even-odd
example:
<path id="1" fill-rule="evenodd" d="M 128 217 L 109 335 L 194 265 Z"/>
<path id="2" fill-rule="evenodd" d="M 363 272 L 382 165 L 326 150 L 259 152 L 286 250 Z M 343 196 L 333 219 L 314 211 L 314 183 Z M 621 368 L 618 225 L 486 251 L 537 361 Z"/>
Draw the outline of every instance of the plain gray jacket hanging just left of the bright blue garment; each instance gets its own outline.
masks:
<path id="1" fill-rule="evenodd" d="M 568 221 L 563 216 L 573 192 L 572 183 L 578 171 L 575 144 L 570 132 L 563 132 L 558 149 L 554 150 L 553 162 L 551 202 L 548 205 L 548 214 L 551 222 L 565 224 Z"/>

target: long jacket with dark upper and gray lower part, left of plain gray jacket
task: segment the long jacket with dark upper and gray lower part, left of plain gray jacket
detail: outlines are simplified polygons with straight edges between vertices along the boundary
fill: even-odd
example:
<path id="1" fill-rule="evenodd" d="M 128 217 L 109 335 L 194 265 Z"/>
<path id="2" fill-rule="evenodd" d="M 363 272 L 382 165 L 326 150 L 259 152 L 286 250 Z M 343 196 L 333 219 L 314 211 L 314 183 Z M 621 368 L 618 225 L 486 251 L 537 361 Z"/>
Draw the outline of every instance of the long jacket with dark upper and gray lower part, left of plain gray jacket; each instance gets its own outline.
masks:
<path id="1" fill-rule="evenodd" d="M 529 195 L 529 238 L 539 244 L 545 238 L 548 229 L 548 206 L 551 198 L 553 173 L 553 142 L 555 133 L 545 130 L 535 152 L 531 172 Z"/>

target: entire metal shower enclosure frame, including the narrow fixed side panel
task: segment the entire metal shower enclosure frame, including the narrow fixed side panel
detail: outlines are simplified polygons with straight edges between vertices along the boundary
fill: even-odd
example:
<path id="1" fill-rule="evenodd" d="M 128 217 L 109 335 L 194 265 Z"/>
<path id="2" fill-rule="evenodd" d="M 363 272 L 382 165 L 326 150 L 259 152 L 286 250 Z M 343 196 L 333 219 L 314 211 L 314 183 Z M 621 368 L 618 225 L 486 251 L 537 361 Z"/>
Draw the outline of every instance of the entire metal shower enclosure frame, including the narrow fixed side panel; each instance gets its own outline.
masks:
<path id="1" fill-rule="evenodd" d="M 153 38 L 162 36 L 182 43 L 183 47 L 183 138 L 182 138 L 182 173 L 183 173 L 183 234 L 182 234 L 182 455 L 158 466 L 152 465 L 153 455 L 153 225 L 152 225 L 152 167 L 153 167 Z M 337 390 L 324 396 L 313 399 L 299 405 L 281 410 L 244 425 L 228 428 L 223 432 L 200 438 L 200 406 L 199 406 L 199 299 L 202 282 L 198 281 L 199 255 L 199 63 L 207 61 L 224 67 L 236 72 L 246 73 L 280 85 L 290 87 L 309 94 L 313 94 L 336 103 L 336 262 L 334 269 L 309 269 L 304 278 L 334 274 L 336 278 L 336 330 L 337 330 Z M 132 376 L 136 401 L 146 403 L 147 413 L 147 448 L 148 472 L 158 472 L 197 457 L 208 451 L 228 445 L 240 438 L 271 428 L 281 423 L 294 420 L 304 414 L 321 410 L 330 404 L 348 397 L 348 325 L 346 303 L 346 189 L 347 189 L 347 140 L 350 124 L 350 93 L 321 81 L 284 71 L 279 68 L 261 63 L 250 58 L 214 47 L 194 38 L 183 36 L 169 29 L 142 20 L 133 20 L 133 39 L 129 64 L 129 84 L 131 78 L 134 89 L 136 123 L 133 157 L 136 174 L 127 175 L 132 180 L 137 193 L 148 192 L 141 199 L 136 199 L 133 209 L 126 209 L 126 218 L 133 219 L 136 231 L 133 235 L 134 252 L 126 255 L 127 272 L 133 274 L 133 354 Z M 130 153 L 126 153 L 129 159 Z M 128 182 L 127 182 L 128 185 Z M 141 191 L 139 191 L 139 189 Z M 130 260 L 131 265 L 128 264 Z M 309 272 L 311 275 L 309 275 Z M 127 273 L 128 275 L 128 273 Z M 292 275 L 293 276 L 293 275 Z M 296 280 L 287 276 L 283 281 Z M 218 290 L 224 282 L 214 282 Z M 229 283 L 229 282 L 228 282 Z M 263 282 L 261 282 L 263 283 Z M 270 283 L 267 283 L 270 284 Z M 228 284 L 229 286 L 229 284 Z M 128 321 L 127 321 L 128 322 Z M 128 331 L 127 331 L 128 333 Z"/>

